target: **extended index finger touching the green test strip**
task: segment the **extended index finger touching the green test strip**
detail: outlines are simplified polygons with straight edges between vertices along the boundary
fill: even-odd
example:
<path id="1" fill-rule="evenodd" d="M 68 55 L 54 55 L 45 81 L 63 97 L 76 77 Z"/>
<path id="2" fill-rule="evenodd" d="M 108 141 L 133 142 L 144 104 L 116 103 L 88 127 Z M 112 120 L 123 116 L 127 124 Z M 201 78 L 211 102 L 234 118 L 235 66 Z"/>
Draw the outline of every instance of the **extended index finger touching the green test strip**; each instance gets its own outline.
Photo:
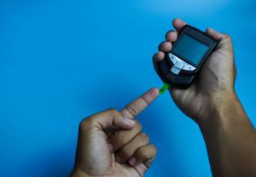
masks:
<path id="1" fill-rule="evenodd" d="M 150 103 L 152 103 L 157 98 L 158 95 L 158 88 L 149 89 L 145 94 L 141 95 L 136 100 L 125 106 L 121 111 L 121 114 L 126 118 L 137 117 L 137 115 L 146 107 L 148 107 Z"/>

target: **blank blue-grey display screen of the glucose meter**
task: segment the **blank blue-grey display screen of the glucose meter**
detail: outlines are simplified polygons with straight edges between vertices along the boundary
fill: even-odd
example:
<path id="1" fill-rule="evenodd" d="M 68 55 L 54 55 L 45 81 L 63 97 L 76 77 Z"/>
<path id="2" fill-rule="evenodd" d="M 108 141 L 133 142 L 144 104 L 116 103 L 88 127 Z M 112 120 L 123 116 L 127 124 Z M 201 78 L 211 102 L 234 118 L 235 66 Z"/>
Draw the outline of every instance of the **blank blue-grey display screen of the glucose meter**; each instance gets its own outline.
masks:
<path id="1" fill-rule="evenodd" d="M 173 52 L 183 56 L 195 66 L 198 66 L 201 57 L 207 52 L 208 46 L 194 37 L 183 34 L 182 38 L 177 42 Z"/>

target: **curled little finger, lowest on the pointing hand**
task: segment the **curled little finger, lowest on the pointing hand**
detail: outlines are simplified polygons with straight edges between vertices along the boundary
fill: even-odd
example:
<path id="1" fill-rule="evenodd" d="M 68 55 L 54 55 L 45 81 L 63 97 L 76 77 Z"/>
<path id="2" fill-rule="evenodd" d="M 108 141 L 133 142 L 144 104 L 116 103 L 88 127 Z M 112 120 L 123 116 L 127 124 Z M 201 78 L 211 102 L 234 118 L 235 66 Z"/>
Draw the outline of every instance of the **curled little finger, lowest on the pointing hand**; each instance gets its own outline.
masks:
<path id="1" fill-rule="evenodd" d="M 129 160 L 129 164 L 134 168 L 137 168 L 137 165 L 143 163 L 147 168 L 150 167 L 151 163 L 154 161 L 154 157 L 156 156 L 157 149 L 153 144 L 149 144 L 147 146 L 140 147 L 134 153 L 133 157 Z M 140 168 L 137 168 L 138 171 L 143 171 L 142 166 L 139 165 Z M 145 173 L 145 169 L 143 174 Z"/>

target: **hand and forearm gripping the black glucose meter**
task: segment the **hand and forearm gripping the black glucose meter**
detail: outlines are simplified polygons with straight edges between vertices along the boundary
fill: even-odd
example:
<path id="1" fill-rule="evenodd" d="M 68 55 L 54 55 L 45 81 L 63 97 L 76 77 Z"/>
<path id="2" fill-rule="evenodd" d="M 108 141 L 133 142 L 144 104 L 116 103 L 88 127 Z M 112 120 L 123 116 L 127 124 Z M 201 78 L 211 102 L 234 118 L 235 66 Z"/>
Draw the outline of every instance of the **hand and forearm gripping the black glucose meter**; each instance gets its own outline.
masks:
<path id="1" fill-rule="evenodd" d="M 176 31 L 166 33 L 154 54 L 154 68 L 172 49 L 185 22 L 172 22 Z M 187 89 L 170 88 L 172 100 L 201 128 L 214 176 L 256 176 L 256 131 L 236 95 L 236 66 L 230 36 L 207 28 L 218 41 L 195 82 Z"/>

